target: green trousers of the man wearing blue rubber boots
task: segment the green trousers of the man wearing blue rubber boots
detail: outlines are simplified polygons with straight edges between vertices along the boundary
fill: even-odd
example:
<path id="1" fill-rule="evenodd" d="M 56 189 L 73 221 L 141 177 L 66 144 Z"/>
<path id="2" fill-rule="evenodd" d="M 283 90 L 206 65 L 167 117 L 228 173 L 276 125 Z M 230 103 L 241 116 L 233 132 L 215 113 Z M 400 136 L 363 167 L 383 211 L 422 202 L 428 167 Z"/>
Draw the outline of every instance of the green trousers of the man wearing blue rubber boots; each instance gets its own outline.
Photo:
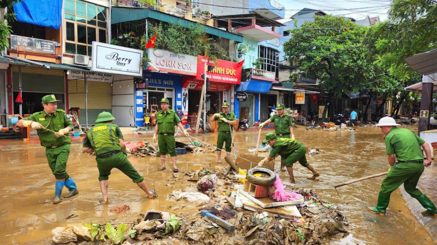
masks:
<path id="1" fill-rule="evenodd" d="M 70 176 L 67 174 L 67 161 L 70 156 L 70 144 L 65 144 L 60 147 L 46 148 L 46 156 L 49 161 L 49 167 L 57 180 L 68 180 Z"/>

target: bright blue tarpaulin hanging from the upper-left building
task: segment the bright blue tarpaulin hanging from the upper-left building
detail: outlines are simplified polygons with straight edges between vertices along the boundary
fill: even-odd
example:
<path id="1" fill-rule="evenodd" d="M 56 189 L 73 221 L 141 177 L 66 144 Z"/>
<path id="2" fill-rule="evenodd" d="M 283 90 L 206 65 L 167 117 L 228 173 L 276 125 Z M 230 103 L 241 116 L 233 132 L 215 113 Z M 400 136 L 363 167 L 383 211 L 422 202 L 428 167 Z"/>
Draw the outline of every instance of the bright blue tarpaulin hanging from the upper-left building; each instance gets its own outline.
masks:
<path id="1" fill-rule="evenodd" d="M 22 0 L 14 4 L 17 21 L 59 30 L 62 0 Z"/>

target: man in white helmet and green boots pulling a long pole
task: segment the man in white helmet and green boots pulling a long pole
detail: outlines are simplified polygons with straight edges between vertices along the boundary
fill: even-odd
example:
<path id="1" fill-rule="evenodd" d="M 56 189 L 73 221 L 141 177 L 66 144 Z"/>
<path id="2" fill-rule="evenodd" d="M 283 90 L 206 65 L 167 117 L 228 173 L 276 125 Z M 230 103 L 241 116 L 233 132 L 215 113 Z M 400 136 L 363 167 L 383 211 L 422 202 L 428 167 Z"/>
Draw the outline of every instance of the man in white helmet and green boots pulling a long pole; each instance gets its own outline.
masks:
<path id="1" fill-rule="evenodd" d="M 390 201 L 390 194 L 403 183 L 405 191 L 427 209 L 422 211 L 423 215 L 437 215 L 434 203 L 416 188 L 425 167 L 431 166 L 431 149 L 428 143 L 411 130 L 397 128 L 396 126 L 399 126 L 399 124 L 396 124 L 396 121 L 388 116 L 381 118 L 376 126 L 379 126 L 385 135 L 385 151 L 390 170 L 387 177 L 382 181 L 376 207 L 368 207 L 367 210 L 385 215 L 385 209 Z M 425 161 L 420 146 L 427 155 Z M 398 160 L 396 163 L 395 156 Z"/>

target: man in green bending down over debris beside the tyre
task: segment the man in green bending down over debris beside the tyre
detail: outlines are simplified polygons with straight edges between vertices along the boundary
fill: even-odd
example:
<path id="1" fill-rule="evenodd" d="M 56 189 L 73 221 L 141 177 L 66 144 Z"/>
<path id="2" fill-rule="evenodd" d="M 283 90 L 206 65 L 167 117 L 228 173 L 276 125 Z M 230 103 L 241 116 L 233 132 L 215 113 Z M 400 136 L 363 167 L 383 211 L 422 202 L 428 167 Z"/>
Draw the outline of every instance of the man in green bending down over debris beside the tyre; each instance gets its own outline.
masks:
<path id="1" fill-rule="evenodd" d="M 268 143 L 272 147 L 272 151 L 270 151 L 269 156 L 258 163 L 259 167 L 265 163 L 268 163 L 270 160 L 276 157 L 277 154 L 279 154 L 281 157 L 285 158 L 285 166 L 287 167 L 287 171 L 290 175 L 290 183 L 294 183 L 293 164 L 297 161 L 300 163 L 300 165 L 306 167 L 312 172 L 313 175 L 311 177 L 307 177 L 307 179 L 316 180 L 316 177 L 320 176 L 320 174 L 317 173 L 317 171 L 314 170 L 311 164 L 309 164 L 306 160 L 306 148 L 302 145 L 302 143 L 293 139 L 277 138 L 273 133 L 266 134 L 266 139 L 263 140 L 263 143 Z"/>

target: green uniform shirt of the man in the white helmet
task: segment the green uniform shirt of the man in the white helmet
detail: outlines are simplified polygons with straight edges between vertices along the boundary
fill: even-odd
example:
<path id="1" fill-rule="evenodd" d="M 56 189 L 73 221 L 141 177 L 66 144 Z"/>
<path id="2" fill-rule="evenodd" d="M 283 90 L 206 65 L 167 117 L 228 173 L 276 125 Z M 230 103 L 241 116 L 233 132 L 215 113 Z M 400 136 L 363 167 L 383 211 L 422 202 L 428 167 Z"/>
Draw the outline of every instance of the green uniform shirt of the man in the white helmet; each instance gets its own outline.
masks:
<path id="1" fill-rule="evenodd" d="M 401 128 L 392 128 L 385 136 L 387 154 L 395 154 L 398 161 L 423 160 L 420 146 L 425 141 L 413 131 Z"/>

